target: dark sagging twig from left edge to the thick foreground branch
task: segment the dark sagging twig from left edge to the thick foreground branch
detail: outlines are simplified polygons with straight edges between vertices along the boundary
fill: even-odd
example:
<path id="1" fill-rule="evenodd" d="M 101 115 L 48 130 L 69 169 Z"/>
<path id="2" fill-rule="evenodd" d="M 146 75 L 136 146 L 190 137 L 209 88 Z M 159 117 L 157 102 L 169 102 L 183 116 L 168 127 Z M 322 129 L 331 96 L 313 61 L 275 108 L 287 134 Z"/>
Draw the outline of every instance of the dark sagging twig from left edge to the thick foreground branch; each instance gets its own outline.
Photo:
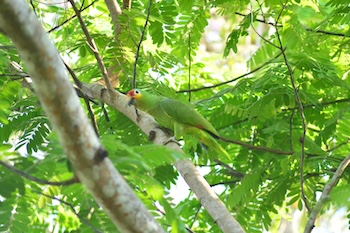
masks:
<path id="1" fill-rule="evenodd" d="M 78 183 L 79 180 L 77 179 L 77 177 L 72 177 L 69 180 L 65 180 L 65 181 L 48 181 L 48 180 L 43 180 L 43 179 L 39 179 L 35 176 L 32 176 L 22 170 L 19 170 L 18 168 L 16 168 L 15 166 L 9 165 L 3 161 L 0 160 L 0 165 L 2 165 L 3 167 L 9 169 L 10 171 L 12 171 L 13 173 L 16 173 L 17 175 L 20 175 L 24 178 L 26 178 L 27 180 L 33 181 L 35 183 L 38 184 L 43 184 L 43 185 L 52 185 L 52 186 L 66 186 L 66 185 L 71 185 L 71 184 L 75 184 Z"/>

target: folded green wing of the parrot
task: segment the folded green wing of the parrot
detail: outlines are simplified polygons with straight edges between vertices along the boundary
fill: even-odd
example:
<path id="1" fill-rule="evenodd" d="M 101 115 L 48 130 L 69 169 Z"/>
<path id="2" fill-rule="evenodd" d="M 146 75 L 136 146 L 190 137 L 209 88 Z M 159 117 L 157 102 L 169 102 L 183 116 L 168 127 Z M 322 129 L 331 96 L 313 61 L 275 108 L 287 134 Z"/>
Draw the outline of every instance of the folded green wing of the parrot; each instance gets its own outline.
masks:
<path id="1" fill-rule="evenodd" d="M 203 129 L 216 136 L 218 135 L 210 122 L 190 105 L 168 98 L 161 99 L 159 105 L 165 114 L 173 118 L 174 121 Z"/>

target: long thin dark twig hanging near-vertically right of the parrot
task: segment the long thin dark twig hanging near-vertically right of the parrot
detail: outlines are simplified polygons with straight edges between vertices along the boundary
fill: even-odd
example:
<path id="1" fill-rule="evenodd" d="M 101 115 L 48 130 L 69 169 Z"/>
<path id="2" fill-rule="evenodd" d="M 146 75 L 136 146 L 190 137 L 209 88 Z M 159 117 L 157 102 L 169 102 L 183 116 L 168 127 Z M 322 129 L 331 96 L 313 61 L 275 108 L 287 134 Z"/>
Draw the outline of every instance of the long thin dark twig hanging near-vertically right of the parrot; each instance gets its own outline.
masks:
<path id="1" fill-rule="evenodd" d="M 288 0 L 283 5 L 281 12 L 279 13 L 279 15 L 278 15 L 278 17 L 276 19 L 276 22 L 278 22 L 279 18 L 281 17 L 282 12 L 285 9 L 287 3 L 288 3 Z M 287 69 L 288 69 L 290 82 L 291 82 L 291 85 L 292 85 L 293 90 L 294 90 L 295 99 L 297 101 L 298 108 L 299 108 L 299 114 L 300 114 L 300 117 L 301 117 L 303 133 L 302 133 L 302 136 L 300 138 L 300 144 L 301 144 L 300 171 L 299 171 L 300 172 L 300 189 L 301 189 L 301 197 L 303 199 L 305 207 L 310 212 L 311 211 L 310 205 L 308 203 L 308 200 L 307 200 L 306 195 L 305 195 L 305 190 L 304 190 L 304 174 L 303 174 L 304 173 L 304 163 L 305 163 L 305 138 L 306 138 L 306 130 L 307 130 L 306 129 L 306 119 L 305 119 L 305 114 L 304 114 L 304 108 L 303 108 L 303 104 L 302 104 L 302 102 L 300 100 L 300 97 L 299 97 L 298 89 L 297 89 L 297 87 L 295 85 L 294 74 L 293 74 L 292 68 L 290 67 L 290 64 L 288 62 L 286 53 L 283 50 L 283 44 L 282 44 L 281 36 L 280 36 L 280 34 L 278 32 L 278 28 L 275 27 L 275 29 L 276 29 L 277 40 L 278 40 L 278 42 L 280 44 L 280 49 L 282 51 L 284 63 L 287 66 Z"/>

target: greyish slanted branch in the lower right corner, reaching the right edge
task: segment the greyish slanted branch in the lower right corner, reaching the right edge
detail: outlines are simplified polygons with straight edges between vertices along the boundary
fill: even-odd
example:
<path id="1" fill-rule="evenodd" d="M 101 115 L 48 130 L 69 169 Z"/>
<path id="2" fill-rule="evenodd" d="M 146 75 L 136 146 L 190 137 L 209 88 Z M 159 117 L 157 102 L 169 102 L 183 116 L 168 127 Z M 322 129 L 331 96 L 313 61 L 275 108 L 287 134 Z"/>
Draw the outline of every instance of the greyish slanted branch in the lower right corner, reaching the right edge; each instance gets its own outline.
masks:
<path id="1" fill-rule="evenodd" d="M 304 233 L 310 233 L 312 229 L 315 227 L 314 224 L 315 224 L 317 215 L 320 213 L 323 205 L 329 200 L 329 195 L 332 189 L 337 185 L 341 175 L 343 174 L 344 170 L 347 168 L 349 163 L 350 163 L 350 154 L 343 159 L 343 161 L 339 164 L 339 167 L 337 168 L 336 172 L 332 176 L 331 180 L 324 186 L 320 199 L 317 201 L 315 207 L 310 213 L 310 217 L 306 223 Z"/>

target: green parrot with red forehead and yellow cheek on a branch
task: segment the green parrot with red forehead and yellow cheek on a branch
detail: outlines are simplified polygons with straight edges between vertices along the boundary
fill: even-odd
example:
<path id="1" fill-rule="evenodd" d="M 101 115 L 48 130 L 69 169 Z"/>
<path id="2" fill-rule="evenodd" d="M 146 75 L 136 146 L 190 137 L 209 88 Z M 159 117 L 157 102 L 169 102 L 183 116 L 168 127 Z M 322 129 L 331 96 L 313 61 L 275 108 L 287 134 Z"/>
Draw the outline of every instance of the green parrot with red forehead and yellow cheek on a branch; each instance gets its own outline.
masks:
<path id="1" fill-rule="evenodd" d="M 130 97 L 129 105 L 133 104 L 153 116 L 160 126 L 174 131 L 176 138 L 192 135 L 207 147 L 230 158 L 217 141 L 220 137 L 216 129 L 190 105 L 140 89 L 130 90 L 127 96 Z"/>

